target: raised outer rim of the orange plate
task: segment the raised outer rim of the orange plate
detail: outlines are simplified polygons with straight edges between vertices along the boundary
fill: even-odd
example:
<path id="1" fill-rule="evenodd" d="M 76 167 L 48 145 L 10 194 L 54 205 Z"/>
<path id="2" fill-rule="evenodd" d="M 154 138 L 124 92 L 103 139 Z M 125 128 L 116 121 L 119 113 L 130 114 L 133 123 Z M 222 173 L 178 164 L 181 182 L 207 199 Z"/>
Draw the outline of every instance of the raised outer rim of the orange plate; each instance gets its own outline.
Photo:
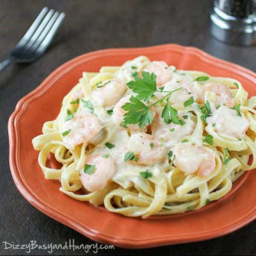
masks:
<path id="1" fill-rule="evenodd" d="M 249 212 L 246 216 L 243 216 L 243 221 L 241 218 L 238 218 L 238 220 L 235 223 L 229 224 L 229 226 L 232 227 L 222 227 L 221 229 L 218 228 L 214 232 L 206 231 L 204 233 L 200 233 L 191 237 L 186 237 L 186 235 L 181 234 L 179 236 L 174 237 L 157 237 L 157 238 L 151 238 L 151 239 L 145 239 L 140 241 L 135 241 L 133 239 L 123 239 L 122 237 L 117 236 L 110 236 L 108 234 L 103 234 L 102 232 L 99 233 L 96 230 L 90 229 L 90 227 L 83 226 L 81 227 L 81 224 L 77 224 L 76 221 L 72 220 L 71 218 L 68 219 L 67 216 L 64 216 L 61 212 L 55 211 L 55 209 L 52 209 L 51 207 L 44 205 L 43 202 L 38 201 L 35 195 L 33 195 L 33 192 L 29 191 L 26 188 L 26 180 L 23 180 L 22 177 L 20 177 L 18 166 L 18 156 L 15 154 L 15 152 L 18 152 L 17 148 L 19 147 L 19 132 L 18 132 L 18 118 L 21 116 L 21 114 L 26 110 L 26 106 L 31 102 L 32 100 L 40 97 L 41 94 L 45 93 L 50 87 L 52 87 L 52 84 L 54 84 L 54 80 L 58 78 L 58 76 L 62 76 L 64 73 L 69 72 L 70 69 L 72 69 L 73 66 L 78 65 L 79 63 L 84 60 L 84 58 L 89 61 L 91 58 L 95 58 L 96 56 L 102 56 L 102 55 L 113 55 L 113 53 L 119 53 L 122 54 L 122 52 L 133 52 L 138 51 L 150 51 L 152 49 L 160 50 L 160 49 L 166 49 L 166 48 L 175 48 L 180 51 L 190 52 L 195 55 L 199 55 L 201 58 L 204 59 L 204 61 L 212 62 L 214 61 L 218 66 L 225 67 L 226 70 L 234 70 L 236 69 L 236 72 L 241 73 L 241 75 L 244 76 L 244 74 L 247 75 L 247 79 L 250 78 L 256 80 L 256 74 L 245 68 L 241 67 L 237 64 L 233 64 L 228 61 L 221 60 L 219 58 L 213 57 L 212 55 L 209 55 L 207 52 L 204 52 L 198 48 L 195 47 L 184 47 L 177 44 L 162 44 L 157 46 L 150 46 L 150 47 L 136 47 L 136 48 L 111 48 L 111 49 L 102 49 L 97 50 L 89 53 L 85 53 L 82 55 L 79 55 L 70 61 L 65 62 L 60 67 L 55 69 L 52 73 L 47 76 L 44 81 L 41 82 L 41 84 L 36 87 L 34 90 L 32 90 L 30 93 L 28 93 L 26 96 L 21 98 L 16 107 L 14 112 L 9 117 L 8 121 L 8 134 L 9 134 L 9 166 L 12 174 L 12 178 L 15 182 L 15 185 L 21 195 L 29 201 L 30 204 L 32 204 L 34 207 L 39 209 L 44 214 L 48 215 L 49 217 L 55 219 L 56 221 L 61 222 L 64 225 L 67 225 L 68 227 L 78 231 L 79 233 L 89 237 L 90 239 L 93 239 L 94 241 L 98 241 L 101 243 L 107 243 L 107 244 L 114 244 L 119 247 L 125 247 L 125 248 L 146 248 L 146 247 L 156 247 L 160 245 L 167 245 L 167 244 L 180 244 L 185 242 L 192 242 L 192 241 L 203 241 L 211 238 L 215 238 L 218 236 L 224 236 L 228 233 L 231 233 L 235 230 L 238 230 L 239 228 L 243 227 L 244 225 L 248 224 L 249 222 L 253 221 L 256 218 L 256 208 L 254 208 L 251 212 Z M 68 68 L 67 68 L 68 67 Z M 64 73 L 61 73 L 62 70 L 67 70 Z M 253 80 L 251 80 L 253 81 Z M 223 230 L 224 229 L 224 230 Z M 222 230 L 222 231 L 220 231 Z M 209 233 L 210 232 L 210 233 Z"/>

